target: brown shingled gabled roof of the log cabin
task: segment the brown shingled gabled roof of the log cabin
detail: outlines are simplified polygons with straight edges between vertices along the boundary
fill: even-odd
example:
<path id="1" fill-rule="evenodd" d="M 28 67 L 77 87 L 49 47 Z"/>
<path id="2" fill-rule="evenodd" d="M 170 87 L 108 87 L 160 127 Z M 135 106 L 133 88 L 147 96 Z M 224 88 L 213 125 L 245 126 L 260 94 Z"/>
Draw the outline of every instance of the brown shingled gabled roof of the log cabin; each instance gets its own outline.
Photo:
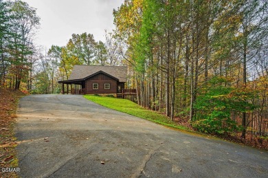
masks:
<path id="1" fill-rule="evenodd" d="M 126 82 L 127 66 L 106 65 L 75 65 L 69 80 L 85 79 L 100 71 L 117 78 L 119 82 Z"/>

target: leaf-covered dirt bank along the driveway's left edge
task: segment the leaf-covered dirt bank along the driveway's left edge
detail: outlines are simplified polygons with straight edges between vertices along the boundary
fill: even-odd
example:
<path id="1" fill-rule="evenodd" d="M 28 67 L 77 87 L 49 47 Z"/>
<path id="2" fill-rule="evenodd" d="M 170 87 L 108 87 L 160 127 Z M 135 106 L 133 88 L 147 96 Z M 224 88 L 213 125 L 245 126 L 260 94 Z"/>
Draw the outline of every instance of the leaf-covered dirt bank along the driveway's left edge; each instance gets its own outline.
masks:
<path id="1" fill-rule="evenodd" d="M 25 93 L 19 90 L 0 89 L 0 168 L 12 168 L 18 164 L 13 128 L 19 98 L 22 96 L 25 96 Z M 3 173 L 1 169 L 0 177 L 16 177 L 16 175 Z"/>

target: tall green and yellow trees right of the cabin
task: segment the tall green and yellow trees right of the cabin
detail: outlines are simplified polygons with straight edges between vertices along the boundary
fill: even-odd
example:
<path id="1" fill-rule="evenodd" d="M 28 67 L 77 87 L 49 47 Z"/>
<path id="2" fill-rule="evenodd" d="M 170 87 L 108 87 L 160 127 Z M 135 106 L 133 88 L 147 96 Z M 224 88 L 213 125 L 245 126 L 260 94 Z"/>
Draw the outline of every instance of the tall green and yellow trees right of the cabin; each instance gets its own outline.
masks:
<path id="1" fill-rule="evenodd" d="M 115 32 L 137 102 L 204 133 L 267 140 L 267 8 L 263 0 L 124 1 Z"/>

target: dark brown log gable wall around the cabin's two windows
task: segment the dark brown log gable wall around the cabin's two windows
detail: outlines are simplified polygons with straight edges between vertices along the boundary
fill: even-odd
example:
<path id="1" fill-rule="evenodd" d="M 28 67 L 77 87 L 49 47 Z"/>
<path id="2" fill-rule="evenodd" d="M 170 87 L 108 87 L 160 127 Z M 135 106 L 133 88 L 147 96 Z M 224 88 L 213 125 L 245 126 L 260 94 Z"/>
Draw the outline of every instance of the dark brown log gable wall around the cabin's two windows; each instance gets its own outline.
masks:
<path id="1" fill-rule="evenodd" d="M 99 89 L 93 89 L 93 83 L 98 83 Z M 104 89 L 104 83 L 110 84 L 110 89 Z M 97 74 L 86 80 L 87 94 L 117 93 L 118 81 L 105 75 Z"/>

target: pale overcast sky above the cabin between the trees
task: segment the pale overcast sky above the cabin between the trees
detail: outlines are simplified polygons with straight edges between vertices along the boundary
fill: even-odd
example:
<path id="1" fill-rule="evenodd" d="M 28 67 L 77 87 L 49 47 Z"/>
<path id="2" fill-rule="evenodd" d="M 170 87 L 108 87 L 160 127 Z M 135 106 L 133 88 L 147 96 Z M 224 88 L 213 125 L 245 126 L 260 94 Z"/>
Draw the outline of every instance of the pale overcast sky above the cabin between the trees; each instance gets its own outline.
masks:
<path id="1" fill-rule="evenodd" d="M 41 17 L 36 44 L 44 47 L 66 45 L 71 34 L 93 34 L 96 41 L 104 41 L 104 30 L 111 31 L 113 9 L 124 0 L 22 0 Z"/>

